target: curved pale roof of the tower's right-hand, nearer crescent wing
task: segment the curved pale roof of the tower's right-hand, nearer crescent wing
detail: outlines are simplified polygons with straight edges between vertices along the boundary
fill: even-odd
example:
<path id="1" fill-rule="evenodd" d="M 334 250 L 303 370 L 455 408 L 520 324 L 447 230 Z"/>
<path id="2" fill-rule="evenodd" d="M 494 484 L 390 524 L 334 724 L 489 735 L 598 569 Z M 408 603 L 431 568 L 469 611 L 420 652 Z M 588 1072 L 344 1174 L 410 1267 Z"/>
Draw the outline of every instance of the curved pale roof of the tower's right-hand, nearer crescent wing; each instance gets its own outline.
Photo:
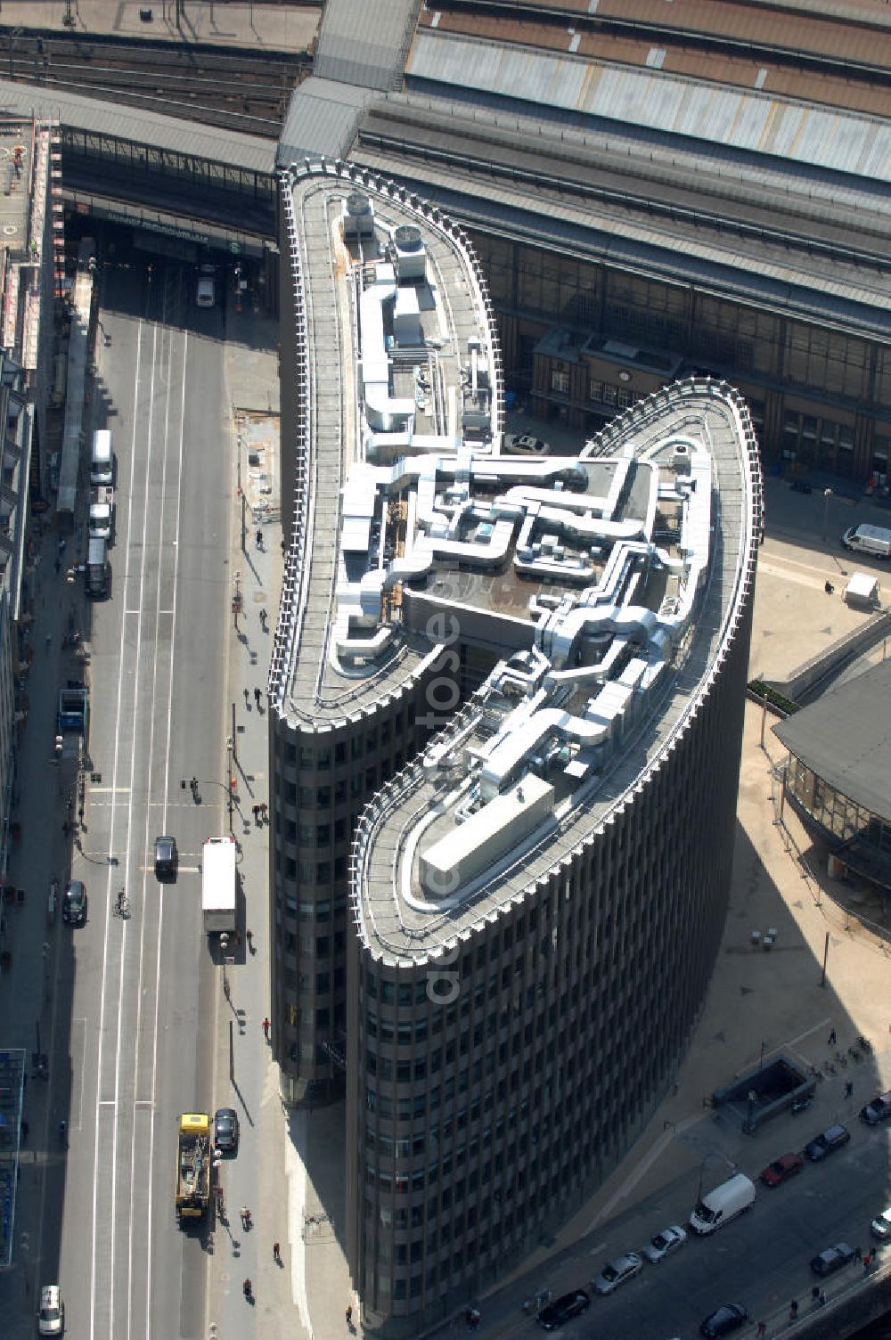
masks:
<path id="1" fill-rule="evenodd" d="M 721 421 L 709 423 L 703 417 L 709 402 L 713 402 L 715 413 L 724 415 L 726 421 L 724 437 Z M 572 773 L 577 779 L 572 783 L 575 793 L 571 788 L 569 792 L 564 788 L 563 799 L 555 796 L 559 803 L 553 807 L 549 823 L 540 824 L 539 820 L 549 804 L 547 792 L 553 789 L 551 785 L 537 783 L 525 788 L 524 795 L 523 777 L 517 781 L 512 772 L 493 773 L 493 777 L 501 779 L 492 792 L 493 797 L 501 797 L 498 824 L 508 835 L 516 832 L 517 840 L 513 846 L 508 843 L 502 847 L 504 859 L 497 852 L 490 859 L 492 823 L 488 817 L 480 819 L 484 813 L 480 808 L 474 809 L 473 804 L 468 808 L 468 797 L 472 799 L 474 788 L 478 789 L 478 780 L 473 781 L 474 776 L 485 781 L 485 769 L 482 773 L 474 773 L 472 760 L 484 758 L 489 749 L 486 740 L 493 738 L 492 724 L 485 718 L 490 716 L 490 689 L 505 671 L 502 662 L 460 717 L 435 737 L 425 756 L 385 787 L 362 815 L 351 856 L 351 899 L 360 939 L 372 957 L 393 963 L 417 963 L 429 957 L 439 957 L 456 935 L 472 934 L 481 922 L 500 915 L 506 906 L 547 879 L 551 871 L 572 860 L 584 843 L 592 840 L 595 831 L 610 824 L 630 803 L 630 797 L 640 791 L 644 777 L 655 773 L 670 757 L 695 714 L 695 705 L 710 693 L 715 674 L 736 636 L 742 602 L 750 598 L 754 552 L 762 531 L 758 452 L 745 402 L 726 383 L 717 383 L 709 378 L 675 383 L 626 411 L 600 434 L 583 454 L 583 460 L 598 461 L 603 453 L 627 449 L 631 438 L 639 442 L 636 458 L 646 460 L 657 450 L 662 433 L 663 446 L 675 444 L 674 468 L 693 469 L 694 462 L 690 466 L 683 462 L 678 466 L 677 457 L 679 452 L 683 454 L 682 430 L 693 433 L 694 427 L 705 440 L 714 438 L 710 469 L 713 489 L 722 501 L 709 531 L 714 536 L 717 549 L 714 557 L 709 555 L 707 578 L 702 576 L 698 615 L 695 620 L 690 619 L 686 626 L 679 626 L 674 651 L 666 651 L 670 657 L 670 673 L 653 678 L 657 691 L 648 698 L 638 726 L 628 725 L 627 736 L 622 736 L 622 748 L 606 754 L 594 773 L 590 773 L 590 766 L 584 764 L 584 749 L 575 754 L 576 762 L 571 762 L 565 769 L 567 775 Z M 647 446 L 647 441 L 651 445 Z M 689 478 L 695 481 L 695 469 Z M 699 484 L 702 485 L 702 476 Z M 709 488 L 707 484 L 705 486 Z M 695 482 L 693 488 L 695 489 Z M 667 509 L 677 503 L 678 489 L 667 480 L 661 485 L 659 496 Z M 697 513 L 690 512 L 683 521 L 685 539 L 681 544 L 686 545 L 691 555 L 697 552 L 697 544 L 707 543 L 710 548 L 710 541 L 706 540 L 701 527 L 702 521 L 697 521 Z M 698 540 L 694 539 L 697 533 Z M 661 618 L 670 616 L 673 607 L 674 603 L 669 602 Z M 618 622 L 610 616 L 610 622 L 616 628 L 627 627 L 631 614 L 632 611 L 627 611 Z M 640 627 L 647 626 L 647 619 L 640 624 L 639 614 L 634 622 Z M 650 616 L 648 626 L 655 628 Z M 506 662 L 508 670 L 512 663 Z M 535 674 L 535 667 L 531 666 L 531 662 L 525 662 L 523 673 Z M 573 673 L 573 678 L 584 679 L 590 674 L 591 671 L 577 671 Z M 640 671 L 636 674 L 638 678 L 628 683 L 639 682 Z M 618 708 L 624 712 L 622 702 L 628 701 L 627 693 L 622 690 L 616 697 L 623 678 L 615 682 L 610 681 L 608 675 L 599 673 L 599 677 L 606 679 L 606 685 L 596 701 L 611 702 L 612 710 Z M 545 682 L 559 679 L 560 675 L 553 673 L 545 677 Z M 536 701 L 533 699 L 533 706 Z M 590 701 L 588 709 L 583 713 L 583 717 L 592 722 L 598 720 L 598 713 L 591 713 L 594 701 Z M 581 709 L 573 710 L 577 713 Z M 512 709 L 508 720 L 515 717 L 516 712 Z M 544 717 L 552 720 L 559 730 L 567 725 L 576 730 L 565 717 L 565 710 L 557 712 L 556 716 L 553 712 L 549 714 L 545 712 Z M 634 718 L 628 721 L 634 722 Z M 592 725 L 584 730 L 594 730 L 596 734 L 602 728 Z M 639 740 L 632 744 L 635 732 Z M 496 730 L 494 740 L 497 738 Z M 643 746 L 643 766 L 642 740 L 650 741 Z M 445 770 L 441 770 L 442 760 L 448 760 Z M 540 768 L 533 768 L 533 773 L 536 770 L 539 777 L 545 776 Z M 434 838 L 439 833 L 448 835 L 450 829 L 441 824 L 438 816 L 446 811 L 457 813 L 458 807 L 465 809 L 464 819 L 458 813 L 458 823 L 466 825 L 456 831 L 456 838 L 460 836 L 461 840 L 450 843 L 443 836 L 438 847 L 433 850 L 427 847 L 425 858 L 423 833 L 430 831 Z M 520 820 L 519 828 L 515 825 L 516 819 Z M 473 824 L 477 831 L 468 836 Z M 477 859 L 480 851 L 474 850 L 477 847 L 484 854 L 481 862 Z M 461 848 L 464 856 L 473 858 L 460 872 L 460 878 L 456 876 L 457 894 L 427 898 L 427 906 L 423 907 L 423 892 L 414 894 L 418 878 L 423 886 L 423 862 L 427 862 L 427 875 L 433 871 L 437 879 L 441 875 L 454 874 L 454 871 L 438 871 L 437 866 L 441 851 L 445 854 L 446 866 L 450 860 L 457 862 L 454 848 Z M 456 886 L 452 887 L 454 890 Z"/>

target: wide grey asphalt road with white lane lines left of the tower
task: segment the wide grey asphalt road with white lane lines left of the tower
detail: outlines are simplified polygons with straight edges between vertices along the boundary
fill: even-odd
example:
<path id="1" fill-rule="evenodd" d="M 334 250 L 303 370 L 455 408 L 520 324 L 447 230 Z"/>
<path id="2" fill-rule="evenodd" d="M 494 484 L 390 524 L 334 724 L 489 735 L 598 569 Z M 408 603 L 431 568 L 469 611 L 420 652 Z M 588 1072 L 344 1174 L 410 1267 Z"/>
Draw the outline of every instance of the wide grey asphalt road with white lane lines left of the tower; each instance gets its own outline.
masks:
<path id="1" fill-rule="evenodd" d="M 87 635 L 92 720 L 83 929 L 71 931 L 71 1147 L 59 1277 L 67 1331 L 90 1340 L 200 1336 L 204 1244 L 176 1226 L 178 1114 L 208 1110 L 213 993 L 201 934 L 198 860 L 225 827 L 224 677 L 230 579 L 220 307 L 194 306 L 176 263 L 117 256 L 100 268 L 92 426 L 117 456 L 117 543 L 107 602 Z M 153 260 L 151 273 L 146 261 Z M 196 805 L 181 779 L 201 780 Z M 180 846 L 159 886 L 157 833 Z M 107 858 L 114 864 L 107 864 Z M 131 917 L 111 907 L 126 886 Z M 68 1028 L 66 1036 L 66 1028 Z"/>

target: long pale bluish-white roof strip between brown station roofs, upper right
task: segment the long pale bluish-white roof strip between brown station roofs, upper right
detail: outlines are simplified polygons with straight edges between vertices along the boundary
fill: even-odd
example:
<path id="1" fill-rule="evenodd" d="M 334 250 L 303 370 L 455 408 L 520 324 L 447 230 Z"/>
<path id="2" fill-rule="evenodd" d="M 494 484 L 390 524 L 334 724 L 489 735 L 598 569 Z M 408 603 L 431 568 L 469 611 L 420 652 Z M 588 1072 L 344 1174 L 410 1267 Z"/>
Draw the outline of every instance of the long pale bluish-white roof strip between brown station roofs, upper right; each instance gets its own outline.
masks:
<path id="1" fill-rule="evenodd" d="M 756 91 L 619 70 L 569 55 L 486 46 L 418 29 L 406 76 L 549 103 L 606 121 L 718 142 L 872 180 L 891 180 L 891 125 Z"/>

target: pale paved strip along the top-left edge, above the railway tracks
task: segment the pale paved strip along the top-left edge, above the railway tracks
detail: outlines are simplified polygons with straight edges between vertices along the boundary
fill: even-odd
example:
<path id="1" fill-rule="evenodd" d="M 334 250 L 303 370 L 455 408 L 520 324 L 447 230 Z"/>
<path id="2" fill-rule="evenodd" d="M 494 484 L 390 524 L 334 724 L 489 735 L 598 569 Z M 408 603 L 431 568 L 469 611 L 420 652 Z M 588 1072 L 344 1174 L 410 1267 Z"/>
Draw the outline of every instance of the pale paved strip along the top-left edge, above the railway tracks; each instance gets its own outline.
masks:
<path id="1" fill-rule="evenodd" d="M 151 13 L 151 19 L 141 19 L 142 11 Z M 180 28 L 176 0 L 72 0 L 70 27 L 64 23 L 67 12 L 66 0 L 3 0 L 0 23 L 4 28 L 39 28 L 82 38 L 303 52 L 315 43 L 322 5 L 186 0 Z"/>

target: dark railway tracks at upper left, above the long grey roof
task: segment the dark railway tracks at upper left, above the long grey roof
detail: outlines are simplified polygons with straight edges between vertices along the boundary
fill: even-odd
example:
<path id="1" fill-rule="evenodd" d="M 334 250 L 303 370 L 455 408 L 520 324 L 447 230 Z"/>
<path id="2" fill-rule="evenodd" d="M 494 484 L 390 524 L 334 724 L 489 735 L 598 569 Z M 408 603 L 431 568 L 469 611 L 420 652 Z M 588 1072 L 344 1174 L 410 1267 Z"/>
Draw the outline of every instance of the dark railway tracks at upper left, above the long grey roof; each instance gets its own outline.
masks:
<path id="1" fill-rule="evenodd" d="M 46 38 L 0 27 L 0 75 L 277 138 L 308 56 Z"/>

